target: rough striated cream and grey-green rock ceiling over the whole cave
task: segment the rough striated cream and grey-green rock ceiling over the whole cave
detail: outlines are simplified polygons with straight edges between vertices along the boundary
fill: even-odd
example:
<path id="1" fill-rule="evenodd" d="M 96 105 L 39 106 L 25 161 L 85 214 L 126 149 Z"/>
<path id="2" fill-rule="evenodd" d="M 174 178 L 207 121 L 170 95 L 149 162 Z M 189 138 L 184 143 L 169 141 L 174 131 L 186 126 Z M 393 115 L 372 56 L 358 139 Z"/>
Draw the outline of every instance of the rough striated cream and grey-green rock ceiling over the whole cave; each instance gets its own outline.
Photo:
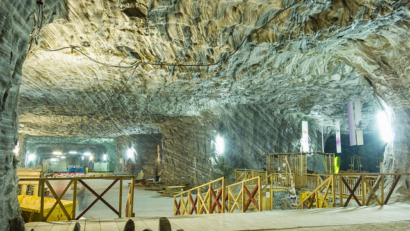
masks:
<path id="1" fill-rule="evenodd" d="M 343 119 L 345 103 L 357 97 L 370 119 L 378 110 L 373 91 L 390 99 L 383 86 L 396 68 L 391 57 L 401 56 L 399 68 L 409 63 L 406 1 L 65 3 L 58 12 L 45 3 L 45 21 L 53 23 L 25 61 L 21 133 L 157 133 L 167 118 L 217 115 L 225 104 L 264 104 L 278 115 L 332 121 Z"/>

